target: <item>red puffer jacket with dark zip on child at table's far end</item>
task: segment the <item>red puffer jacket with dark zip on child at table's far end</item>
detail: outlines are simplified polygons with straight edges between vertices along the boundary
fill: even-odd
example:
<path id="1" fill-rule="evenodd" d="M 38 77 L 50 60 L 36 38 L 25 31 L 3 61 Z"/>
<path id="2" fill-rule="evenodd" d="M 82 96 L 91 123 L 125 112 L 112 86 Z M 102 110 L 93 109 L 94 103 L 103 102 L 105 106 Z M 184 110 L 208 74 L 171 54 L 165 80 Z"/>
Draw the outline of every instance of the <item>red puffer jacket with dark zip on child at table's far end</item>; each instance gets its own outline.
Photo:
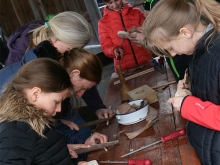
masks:
<path id="1" fill-rule="evenodd" d="M 125 29 L 128 31 L 133 26 L 140 27 L 144 20 L 143 12 L 139 8 L 133 8 L 127 2 L 121 11 L 104 8 L 104 16 L 98 22 L 99 40 L 103 53 L 109 58 L 114 58 L 114 66 L 120 64 L 121 69 L 124 70 L 135 67 L 136 61 L 138 64 L 142 64 L 152 59 L 149 50 L 144 46 L 137 46 L 129 39 L 123 41 L 124 57 L 120 60 L 120 63 L 116 60 L 114 54 L 114 49 L 119 47 L 122 42 L 122 38 L 117 36 L 118 31 L 125 31 Z"/>

